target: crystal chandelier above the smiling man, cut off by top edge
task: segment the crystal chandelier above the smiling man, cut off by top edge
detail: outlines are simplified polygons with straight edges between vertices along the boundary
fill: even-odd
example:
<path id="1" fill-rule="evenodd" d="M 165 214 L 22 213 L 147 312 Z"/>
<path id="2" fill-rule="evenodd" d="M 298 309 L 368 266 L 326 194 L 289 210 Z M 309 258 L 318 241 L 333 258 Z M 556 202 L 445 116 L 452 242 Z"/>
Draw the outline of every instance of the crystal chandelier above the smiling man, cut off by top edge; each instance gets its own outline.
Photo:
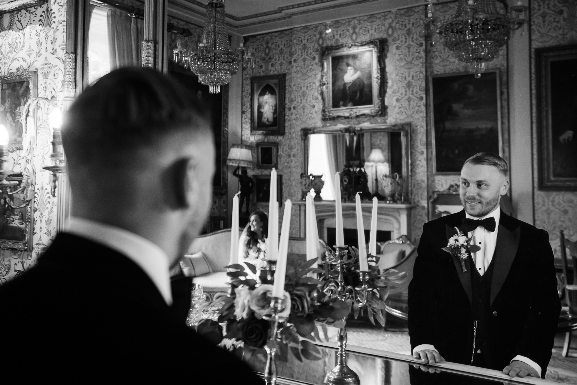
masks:
<path id="1" fill-rule="evenodd" d="M 443 36 L 445 47 L 453 51 L 459 61 L 469 63 L 470 72 L 477 78 L 485 71 L 485 63 L 492 61 L 499 48 L 507 43 L 511 31 L 523 27 L 528 9 L 519 0 L 509 14 L 501 14 L 497 12 L 495 0 L 459 0 L 454 16 L 440 23 L 439 18 L 433 16 L 434 2 L 427 1 L 425 33 Z"/>

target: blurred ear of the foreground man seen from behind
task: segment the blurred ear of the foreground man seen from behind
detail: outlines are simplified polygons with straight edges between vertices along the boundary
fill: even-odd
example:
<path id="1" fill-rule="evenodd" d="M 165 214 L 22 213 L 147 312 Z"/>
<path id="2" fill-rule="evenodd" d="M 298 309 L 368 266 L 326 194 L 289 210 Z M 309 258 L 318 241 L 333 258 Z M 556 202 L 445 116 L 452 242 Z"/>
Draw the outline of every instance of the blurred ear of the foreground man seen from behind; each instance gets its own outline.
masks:
<path id="1" fill-rule="evenodd" d="M 173 210 L 189 207 L 188 195 L 192 188 L 189 175 L 190 159 L 176 160 L 164 173 L 164 196 Z"/>

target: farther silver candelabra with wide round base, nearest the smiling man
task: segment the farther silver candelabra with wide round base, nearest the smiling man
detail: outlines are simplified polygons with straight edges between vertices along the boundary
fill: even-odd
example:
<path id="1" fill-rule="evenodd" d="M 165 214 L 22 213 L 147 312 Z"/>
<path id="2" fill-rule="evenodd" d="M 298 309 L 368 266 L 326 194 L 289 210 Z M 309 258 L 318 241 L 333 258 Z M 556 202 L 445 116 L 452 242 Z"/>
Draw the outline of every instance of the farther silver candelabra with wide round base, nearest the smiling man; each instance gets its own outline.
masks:
<path id="1" fill-rule="evenodd" d="M 362 285 L 355 287 L 345 286 L 344 285 L 344 259 L 347 255 L 347 246 L 335 246 L 335 259 L 336 259 L 336 266 L 339 275 L 336 279 L 336 282 L 329 282 L 328 285 L 324 289 L 324 293 L 328 294 L 328 296 L 332 298 L 339 298 L 339 300 L 346 301 L 346 300 L 353 300 L 358 306 L 362 307 L 366 305 L 367 302 L 367 295 L 369 291 L 368 286 L 368 279 L 369 279 L 369 272 L 368 271 L 359 271 L 359 276 L 361 278 Z M 332 371 L 327 373 L 325 376 L 324 383 L 326 385 L 360 385 L 359 376 L 357 373 L 352 371 L 347 366 L 347 330 L 344 326 L 346 323 L 347 317 L 345 316 L 343 319 L 343 326 L 339 328 L 339 332 L 337 335 L 337 342 L 339 351 L 337 353 L 337 364 Z"/>

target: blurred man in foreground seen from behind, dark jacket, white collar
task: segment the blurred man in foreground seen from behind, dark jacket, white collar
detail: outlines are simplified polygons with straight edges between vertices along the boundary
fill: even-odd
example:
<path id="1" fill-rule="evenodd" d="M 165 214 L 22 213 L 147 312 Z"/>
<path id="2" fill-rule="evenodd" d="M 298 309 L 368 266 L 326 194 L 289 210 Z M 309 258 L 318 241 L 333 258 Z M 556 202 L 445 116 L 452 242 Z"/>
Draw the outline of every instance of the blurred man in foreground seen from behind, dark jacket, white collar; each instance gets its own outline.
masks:
<path id="1" fill-rule="evenodd" d="M 198 100 L 155 70 L 115 70 L 72 104 L 62 143 L 73 218 L 36 267 L 0 287 L 6 376 L 261 383 L 171 309 L 169 267 L 212 200 L 215 149 Z"/>

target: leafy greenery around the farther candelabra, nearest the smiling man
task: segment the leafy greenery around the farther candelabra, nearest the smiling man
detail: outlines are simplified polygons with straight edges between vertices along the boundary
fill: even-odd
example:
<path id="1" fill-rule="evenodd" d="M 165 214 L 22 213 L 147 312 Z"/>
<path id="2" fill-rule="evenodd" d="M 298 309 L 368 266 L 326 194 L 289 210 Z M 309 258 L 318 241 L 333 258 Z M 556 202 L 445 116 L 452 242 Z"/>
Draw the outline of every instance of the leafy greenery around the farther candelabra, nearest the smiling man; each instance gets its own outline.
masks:
<path id="1" fill-rule="evenodd" d="M 325 266 L 327 270 L 321 275 L 320 280 L 323 285 L 323 291 L 334 293 L 335 285 L 333 282 L 339 276 L 337 267 L 338 258 L 335 252 L 330 248 L 326 248 L 327 262 Z M 349 252 L 343 258 L 343 279 L 344 279 L 344 296 L 346 303 L 352 306 L 355 319 L 364 314 L 366 309 L 367 316 L 370 322 L 374 325 L 376 319 L 382 326 L 385 326 L 385 300 L 388 297 L 391 283 L 403 283 L 407 279 L 406 272 L 398 272 L 395 269 L 387 269 L 383 272 L 379 269 L 379 257 L 368 255 L 369 260 L 369 274 L 367 284 L 369 289 L 366 291 L 365 306 L 360 306 L 361 298 L 358 298 L 359 293 L 355 293 L 354 288 L 361 286 L 362 281 L 359 276 L 359 253 L 357 248 L 349 248 Z M 334 293 L 335 294 L 335 293 Z"/>

